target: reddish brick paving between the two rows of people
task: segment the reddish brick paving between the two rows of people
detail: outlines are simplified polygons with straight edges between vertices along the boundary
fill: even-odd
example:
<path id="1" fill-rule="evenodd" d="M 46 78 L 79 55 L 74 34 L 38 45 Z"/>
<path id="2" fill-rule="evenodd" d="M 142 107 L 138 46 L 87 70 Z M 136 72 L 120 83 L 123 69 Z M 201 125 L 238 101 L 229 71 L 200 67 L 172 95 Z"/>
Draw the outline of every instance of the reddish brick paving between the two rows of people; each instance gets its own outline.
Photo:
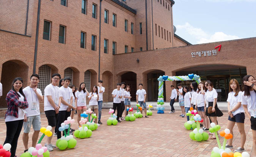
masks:
<path id="1" fill-rule="evenodd" d="M 180 111 L 173 114 L 157 114 L 149 118 L 136 119 L 133 122 L 118 123 L 116 126 L 107 126 L 107 119 L 110 117 L 108 109 L 102 110 L 101 122 L 90 138 L 77 139 L 77 146 L 74 149 L 60 151 L 55 148 L 50 152 L 52 157 L 210 157 L 212 148 L 217 146 L 216 140 L 207 140 L 205 142 L 195 142 L 189 138 L 189 132 L 184 128 L 186 118 L 179 117 Z M 76 119 L 76 115 L 74 117 Z M 228 114 L 218 118 L 221 131 L 227 127 Z M 47 126 L 47 119 L 44 114 L 41 115 L 42 126 Z M 0 119 L 0 139 L 3 144 L 6 136 L 6 126 L 4 119 Z M 78 128 L 77 124 L 72 128 Z M 33 130 L 31 128 L 31 130 Z M 254 156 L 252 151 L 252 132 L 250 129 L 250 120 L 245 119 L 245 132 L 247 139 L 245 149 Z M 20 156 L 24 151 L 22 143 L 22 132 L 20 133 L 16 155 Z M 31 144 L 30 132 L 29 146 Z M 39 134 L 41 137 L 42 133 Z M 219 137 L 222 144 L 223 137 Z M 52 142 L 55 145 L 57 138 L 53 137 Z M 46 142 L 46 137 L 42 144 Z M 240 142 L 240 134 L 237 126 L 234 127 L 233 146 L 237 148 Z M 234 150 L 234 149 L 232 149 Z"/>

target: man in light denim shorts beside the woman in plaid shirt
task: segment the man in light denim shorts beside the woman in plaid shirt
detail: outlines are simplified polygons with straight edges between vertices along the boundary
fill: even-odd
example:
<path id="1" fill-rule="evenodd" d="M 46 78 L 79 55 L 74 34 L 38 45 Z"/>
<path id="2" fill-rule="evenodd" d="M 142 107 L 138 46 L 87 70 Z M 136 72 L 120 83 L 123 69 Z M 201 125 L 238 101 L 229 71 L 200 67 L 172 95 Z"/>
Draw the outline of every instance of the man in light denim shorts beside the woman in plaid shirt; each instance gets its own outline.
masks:
<path id="1" fill-rule="evenodd" d="M 30 76 L 30 86 L 23 89 L 23 93 L 28 101 L 28 108 L 25 109 L 27 113 L 24 117 L 24 133 L 22 135 L 25 151 L 28 151 L 28 133 L 30 132 L 31 125 L 33 125 L 34 133 L 32 136 L 32 147 L 36 147 L 36 141 L 41 129 L 41 118 L 39 101 L 43 100 L 42 92 L 38 87 L 39 76 L 32 74 Z"/>

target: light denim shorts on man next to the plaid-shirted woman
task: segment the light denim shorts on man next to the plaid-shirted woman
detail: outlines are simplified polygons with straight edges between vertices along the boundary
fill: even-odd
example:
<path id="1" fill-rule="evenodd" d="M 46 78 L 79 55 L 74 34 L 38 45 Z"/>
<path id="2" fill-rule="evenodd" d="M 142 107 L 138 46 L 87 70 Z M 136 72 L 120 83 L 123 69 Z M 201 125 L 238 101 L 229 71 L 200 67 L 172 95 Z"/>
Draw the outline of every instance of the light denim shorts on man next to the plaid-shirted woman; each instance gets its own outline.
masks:
<path id="1" fill-rule="evenodd" d="M 31 125 L 33 125 L 34 131 L 39 131 L 41 129 L 41 118 L 40 115 L 34 115 L 27 117 L 27 122 L 24 122 L 24 132 L 30 132 Z"/>

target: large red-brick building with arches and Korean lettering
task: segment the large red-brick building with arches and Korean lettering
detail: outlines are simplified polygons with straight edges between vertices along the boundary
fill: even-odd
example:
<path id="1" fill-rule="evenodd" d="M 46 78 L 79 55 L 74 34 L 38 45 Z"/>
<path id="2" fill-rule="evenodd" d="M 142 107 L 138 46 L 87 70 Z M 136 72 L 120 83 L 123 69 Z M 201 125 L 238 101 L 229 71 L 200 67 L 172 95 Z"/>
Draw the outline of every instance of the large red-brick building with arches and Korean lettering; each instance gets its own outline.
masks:
<path id="1" fill-rule="evenodd" d="M 121 81 L 131 85 L 133 98 L 138 83 L 143 83 L 148 100 L 155 101 L 159 75 L 198 74 L 202 80 L 212 79 L 217 89 L 224 85 L 226 92 L 228 79 L 256 74 L 251 55 L 256 54 L 256 38 L 191 45 L 173 32 L 173 0 L 0 0 L 0 4 L 1 108 L 6 108 L 12 80 L 22 77 L 27 86 L 33 72 L 41 77 L 42 91 L 56 72 L 71 77 L 75 86 L 85 82 L 87 88 L 100 78 L 105 102 L 112 101 L 111 92 Z M 219 44 L 217 55 L 191 55 L 215 50 Z M 171 84 L 176 82 L 165 85 L 167 101 Z"/>

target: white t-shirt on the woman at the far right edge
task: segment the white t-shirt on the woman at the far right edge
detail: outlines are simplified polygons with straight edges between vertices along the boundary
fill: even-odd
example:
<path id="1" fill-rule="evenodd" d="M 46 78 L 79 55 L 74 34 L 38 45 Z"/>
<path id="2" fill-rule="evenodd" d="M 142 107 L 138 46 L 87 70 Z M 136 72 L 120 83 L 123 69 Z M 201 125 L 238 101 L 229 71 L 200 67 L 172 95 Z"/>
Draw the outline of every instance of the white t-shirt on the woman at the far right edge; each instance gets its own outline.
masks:
<path id="1" fill-rule="evenodd" d="M 250 96 L 245 96 L 242 92 L 242 105 L 247 105 L 248 112 L 251 116 L 256 118 L 256 92 L 250 91 Z"/>

